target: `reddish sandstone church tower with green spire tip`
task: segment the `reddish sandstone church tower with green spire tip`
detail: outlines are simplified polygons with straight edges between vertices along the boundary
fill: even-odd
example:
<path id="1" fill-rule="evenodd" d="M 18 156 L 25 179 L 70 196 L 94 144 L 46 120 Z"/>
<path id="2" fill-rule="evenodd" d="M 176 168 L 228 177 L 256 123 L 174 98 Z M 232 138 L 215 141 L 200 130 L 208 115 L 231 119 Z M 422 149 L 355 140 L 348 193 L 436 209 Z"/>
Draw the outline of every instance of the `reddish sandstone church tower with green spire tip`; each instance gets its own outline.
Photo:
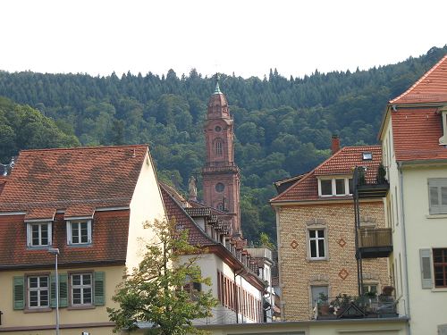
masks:
<path id="1" fill-rule="evenodd" d="M 202 170 L 205 204 L 228 213 L 232 235 L 240 236 L 240 173 L 234 163 L 233 120 L 216 75 L 204 126 L 207 161 Z"/>

